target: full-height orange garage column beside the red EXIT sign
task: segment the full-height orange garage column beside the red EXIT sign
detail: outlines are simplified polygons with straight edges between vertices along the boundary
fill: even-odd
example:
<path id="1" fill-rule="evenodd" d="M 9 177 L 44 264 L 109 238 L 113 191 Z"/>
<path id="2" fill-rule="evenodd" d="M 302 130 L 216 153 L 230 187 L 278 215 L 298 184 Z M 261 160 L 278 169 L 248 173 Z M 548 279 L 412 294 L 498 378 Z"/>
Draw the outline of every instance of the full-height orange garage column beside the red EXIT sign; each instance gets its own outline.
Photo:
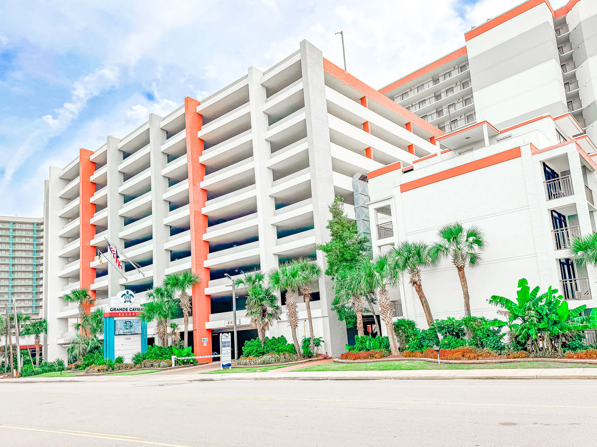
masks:
<path id="1" fill-rule="evenodd" d="M 205 176 L 205 166 L 199 163 L 203 153 L 203 140 L 197 138 L 197 132 L 203 125 L 203 117 L 197 113 L 199 101 L 184 98 L 184 118 L 186 120 L 187 166 L 189 169 L 189 212 L 190 212 L 190 266 L 199 275 L 201 282 L 193 287 L 193 353 L 211 355 L 211 330 L 205 329 L 205 322 L 210 321 L 211 301 L 205 294 L 205 287 L 210 281 L 210 269 L 203 263 L 210 252 L 210 244 L 203 240 L 207 230 L 207 216 L 201 213 L 207 200 L 207 191 L 199 186 Z M 207 339 L 203 346 L 202 339 Z M 211 362 L 211 358 L 206 359 Z"/>

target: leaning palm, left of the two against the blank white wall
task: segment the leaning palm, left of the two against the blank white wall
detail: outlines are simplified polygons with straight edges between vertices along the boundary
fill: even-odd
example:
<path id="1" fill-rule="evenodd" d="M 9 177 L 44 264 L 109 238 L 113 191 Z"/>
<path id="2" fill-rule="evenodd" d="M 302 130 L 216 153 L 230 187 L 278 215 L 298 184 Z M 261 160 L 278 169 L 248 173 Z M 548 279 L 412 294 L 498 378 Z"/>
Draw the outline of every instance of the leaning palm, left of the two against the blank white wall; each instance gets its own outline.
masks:
<path id="1" fill-rule="evenodd" d="M 424 242 L 402 242 L 398 247 L 392 247 L 388 255 L 392 259 L 392 269 L 396 272 L 408 273 L 409 282 L 417 291 L 418 299 L 425 312 L 425 318 L 429 327 L 433 324 L 433 315 L 429 308 L 429 302 L 423 293 L 421 285 L 421 268 L 436 265 L 438 257 L 431 247 Z"/>

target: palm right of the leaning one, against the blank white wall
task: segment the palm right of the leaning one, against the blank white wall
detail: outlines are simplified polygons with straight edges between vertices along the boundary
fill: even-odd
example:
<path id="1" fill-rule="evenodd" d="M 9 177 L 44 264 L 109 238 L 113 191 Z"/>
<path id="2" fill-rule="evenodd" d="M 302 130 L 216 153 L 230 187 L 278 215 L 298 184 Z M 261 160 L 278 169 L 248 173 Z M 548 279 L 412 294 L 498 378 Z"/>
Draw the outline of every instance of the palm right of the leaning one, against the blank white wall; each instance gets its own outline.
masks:
<path id="1" fill-rule="evenodd" d="M 464 313 L 470 315 L 470 296 L 469 285 L 466 282 L 464 267 L 475 266 L 481 260 L 481 252 L 485 249 L 485 240 L 483 233 L 478 226 L 464 228 L 459 222 L 442 226 L 438 235 L 440 241 L 433 244 L 432 250 L 438 259 L 447 257 L 452 260 L 464 297 Z"/>

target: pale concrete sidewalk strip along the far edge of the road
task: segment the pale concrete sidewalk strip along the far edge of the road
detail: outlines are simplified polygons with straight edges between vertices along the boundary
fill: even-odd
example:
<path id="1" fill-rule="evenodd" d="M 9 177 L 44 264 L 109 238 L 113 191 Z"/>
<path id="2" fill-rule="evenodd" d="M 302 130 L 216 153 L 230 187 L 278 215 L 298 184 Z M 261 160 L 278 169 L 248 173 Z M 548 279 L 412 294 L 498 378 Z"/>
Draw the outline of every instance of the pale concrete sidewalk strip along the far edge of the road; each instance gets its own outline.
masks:
<path id="1" fill-rule="evenodd" d="M 174 373 L 174 371 L 172 371 Z M 2 383 L 96 382 L 156 383 L 221 380 L 446 380 L 446 379 L 597 379 L 597 368 L 547 368 L 520 370 L 412 370 L 412 371 L 266 371 L 227 374 L 139 374 L 87 377 L 23 377 Z"/>

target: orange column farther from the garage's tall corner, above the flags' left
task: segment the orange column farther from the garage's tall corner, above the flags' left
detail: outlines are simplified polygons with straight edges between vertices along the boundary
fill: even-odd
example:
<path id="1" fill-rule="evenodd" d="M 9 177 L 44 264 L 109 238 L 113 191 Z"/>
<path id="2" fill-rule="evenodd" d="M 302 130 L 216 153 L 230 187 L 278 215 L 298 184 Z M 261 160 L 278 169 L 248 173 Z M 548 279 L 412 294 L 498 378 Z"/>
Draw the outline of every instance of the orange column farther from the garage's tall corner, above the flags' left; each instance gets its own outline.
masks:
<path id="1" fill-rule="evenodd" d="M 92 154 L 87 149 L 79 151 L 79 287 L 87 289 L 96 280 L 96 269 L 89 266 L 96 258 L 96 247 L 89 244 L 96 237 L 96 226 L 89 223 L 96 213 L 96 205 L 91 203 L 91 196 L 96 193 L 96 184 L 90 180 L 96 170 L 96 163 L 90 160 Z M 89 294 L 96 299 L 95 290 L 90 290 Z M 90 309 L 91 305 L 85 306 L 87 313 Z"/>

